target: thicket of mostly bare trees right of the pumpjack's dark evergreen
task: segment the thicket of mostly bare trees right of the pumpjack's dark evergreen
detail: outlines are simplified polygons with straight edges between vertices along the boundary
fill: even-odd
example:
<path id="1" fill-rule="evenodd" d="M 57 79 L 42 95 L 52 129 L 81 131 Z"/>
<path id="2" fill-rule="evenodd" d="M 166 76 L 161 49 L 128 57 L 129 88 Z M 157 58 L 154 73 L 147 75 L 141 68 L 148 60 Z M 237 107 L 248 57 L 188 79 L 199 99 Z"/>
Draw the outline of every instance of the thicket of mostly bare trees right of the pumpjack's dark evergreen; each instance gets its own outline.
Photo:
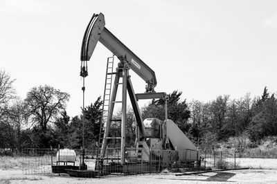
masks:
<path id="1" fill-rule="evenodd" d="M 190 103 L 190 134 L 203 147 L 215 147 L 219 141 L 247 136 L 253 145 L 262 138 L 277 135 L 277 100 L 265 87 L 261 96 L 250 94 L 238 100 L 220 95 L 211 102 Z"/>

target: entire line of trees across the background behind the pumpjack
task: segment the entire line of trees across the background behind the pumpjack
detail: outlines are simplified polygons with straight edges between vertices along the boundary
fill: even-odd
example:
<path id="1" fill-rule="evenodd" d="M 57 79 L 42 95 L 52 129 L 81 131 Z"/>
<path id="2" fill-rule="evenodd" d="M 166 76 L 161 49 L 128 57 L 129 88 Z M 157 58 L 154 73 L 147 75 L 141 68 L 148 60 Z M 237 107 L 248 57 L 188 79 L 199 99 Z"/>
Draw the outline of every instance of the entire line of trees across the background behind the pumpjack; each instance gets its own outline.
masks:
<path id="1" fill-rule="evenodd" d="M 21 151 L 25 147 L 49 148 L 60 145 L 80 149 L 83 123 L 84 147 L 97 147 L 102 114 L 100 97 L 80 109 L 80 114 L 70 117 L 66 113 L 69 93 L 48 85 L 35 86 L 21 100 L 16 95 L 14 82 L 8 73 L 0 71 L 1 148 Z M 266 136 L 277 136 L 277 100 L 267 87 L 256 98 L 247 94 L 237 100 L 229 95 L 219 95 L 210 102 L 186 102 L 181 100 L 181 94 L 181 91 L 172 91 L 168 95 L 168 118 L 198 147 L 214 149 L 218 142 L 242 135 L 247 136 L 254 146 Z M 164 120 L 164 103 L 159 99 L 145 104 L 141 108 L 143 119 Z M 120 111 L 114 116 L 120 117 Z M 135 118 L 131 108 L 127 109 L 126 126 L 129 147 L 135 139 Z M 120 129 L 114 129 L 111 134 L 120 135 Z"/>

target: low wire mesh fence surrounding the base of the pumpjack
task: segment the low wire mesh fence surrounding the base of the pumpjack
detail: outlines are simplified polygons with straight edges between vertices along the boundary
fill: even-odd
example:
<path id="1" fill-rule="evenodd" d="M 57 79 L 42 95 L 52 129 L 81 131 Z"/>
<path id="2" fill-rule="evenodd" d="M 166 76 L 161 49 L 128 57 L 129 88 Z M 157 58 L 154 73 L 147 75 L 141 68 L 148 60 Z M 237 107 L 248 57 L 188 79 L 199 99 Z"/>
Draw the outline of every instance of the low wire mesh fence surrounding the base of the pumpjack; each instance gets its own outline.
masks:
<path id="1" fill-rule="evenodd" d="M 66 149 L 24 149 L 22 169 L 24 174 L 67 173 L 66 169 L 80 170 L 82 155 L 86 172 L 91 177 L 105 174 L 156 173 L 163 169 L 184 172 L 198 167 L 195 160 L 201 158 L 201 167 L 212 169 L 240 168 L 240 159 L 235 151 L 195 151 L 126 148 L 125 165 L 120 165 L 120 148 L 107 148 L 105 158 L 100 158 L 100 149 L 74 151 Z M 84 152 L 83 152 L 84 151 Z M 80 171 L 81 172 L 81 171 Z"/>

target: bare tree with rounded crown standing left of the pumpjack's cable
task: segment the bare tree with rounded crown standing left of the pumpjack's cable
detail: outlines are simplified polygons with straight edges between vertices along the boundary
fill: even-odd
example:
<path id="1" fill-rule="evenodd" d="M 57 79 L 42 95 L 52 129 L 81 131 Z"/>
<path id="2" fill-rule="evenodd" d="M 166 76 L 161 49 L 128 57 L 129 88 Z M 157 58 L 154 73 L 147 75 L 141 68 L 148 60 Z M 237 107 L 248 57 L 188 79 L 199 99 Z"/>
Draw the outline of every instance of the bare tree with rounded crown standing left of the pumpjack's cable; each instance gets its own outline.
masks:
<path id="1" fill-rule="evenodd" d="M 48 122 L 53 122 L 60 111 L 65 109 L 69 97 L 69 93 L 52 86 L 33 87 L 24 100 L 26 119 L 32 126 L 37 124 L 46 131 Z"/>

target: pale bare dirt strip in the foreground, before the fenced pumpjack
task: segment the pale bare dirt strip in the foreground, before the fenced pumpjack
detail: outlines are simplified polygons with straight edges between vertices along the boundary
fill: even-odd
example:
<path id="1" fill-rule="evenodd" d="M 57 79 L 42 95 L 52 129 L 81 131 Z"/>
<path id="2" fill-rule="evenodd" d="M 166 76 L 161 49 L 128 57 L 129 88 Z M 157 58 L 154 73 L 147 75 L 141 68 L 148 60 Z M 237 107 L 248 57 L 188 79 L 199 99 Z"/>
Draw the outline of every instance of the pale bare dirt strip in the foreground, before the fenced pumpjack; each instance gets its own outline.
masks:
<path id="1" fill-rule="evenodd" d="M 188 176 L 175 174 L 109 175 L 102 178 L 73 178 L 66 174 L 26 175 L 20 169 L 0 169 L 0 183 L 277 183 L 277 169 L 244 169 Z"/>

